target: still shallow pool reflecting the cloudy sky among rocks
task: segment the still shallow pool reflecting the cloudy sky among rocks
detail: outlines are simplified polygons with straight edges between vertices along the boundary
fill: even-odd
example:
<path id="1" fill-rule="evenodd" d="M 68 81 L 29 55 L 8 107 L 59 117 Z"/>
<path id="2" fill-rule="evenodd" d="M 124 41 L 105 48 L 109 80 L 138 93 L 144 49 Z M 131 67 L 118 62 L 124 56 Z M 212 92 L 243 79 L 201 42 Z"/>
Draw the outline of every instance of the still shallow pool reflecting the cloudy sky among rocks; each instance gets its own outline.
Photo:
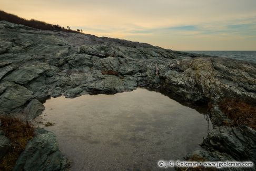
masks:
<path id="1" fill-rule="evenodd" d="M 160 159 L 180 159 L 208 132 L 196 110 L 138 88 L 115 95 L 46 101 L 41 119 L 54 132 L 72 170 L 155 170 Z M 37 118 L 38 119 L 38 118 Z"/>

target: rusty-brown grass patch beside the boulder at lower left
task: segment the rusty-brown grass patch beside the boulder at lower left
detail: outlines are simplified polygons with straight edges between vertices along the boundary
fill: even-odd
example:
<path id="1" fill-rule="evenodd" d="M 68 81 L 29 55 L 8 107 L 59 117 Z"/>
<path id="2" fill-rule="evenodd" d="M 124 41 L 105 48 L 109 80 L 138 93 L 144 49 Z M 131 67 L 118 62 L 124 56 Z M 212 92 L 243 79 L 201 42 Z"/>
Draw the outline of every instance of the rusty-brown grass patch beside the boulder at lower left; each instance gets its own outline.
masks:
<path id="1" fill-rule="evenodd" d="M 34 128 L 28 123 L 23 123 L 17 118 L 0 116 L 2 126 L 1 130 L 9 140 L 11 140 L 11 149 L 2 158 L 0 170 L 12 170 L 16 164 L 18 156 L 23 152 L 28 140 L 33 138 Z"/>

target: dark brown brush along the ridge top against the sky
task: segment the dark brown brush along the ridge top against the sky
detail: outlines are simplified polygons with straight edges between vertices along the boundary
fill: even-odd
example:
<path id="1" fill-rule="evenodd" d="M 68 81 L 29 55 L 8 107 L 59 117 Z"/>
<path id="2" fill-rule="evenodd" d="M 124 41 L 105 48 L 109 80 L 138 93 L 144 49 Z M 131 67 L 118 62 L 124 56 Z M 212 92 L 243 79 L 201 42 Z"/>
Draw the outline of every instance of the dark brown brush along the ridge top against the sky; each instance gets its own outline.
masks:
<path id="1" fill-rule="evenodd" d="M 37 21 L 35 19 L 24 19 L 21 17 L 18 17 L 13 14 L 6 13 L 4 11 L 0 10 L 0 21 L 7 21 L 10 23 L 15 23 L 15 24 L 22 24 L 28 27 L 32 28 L 38 28 L 38 29 L 44 29 L 44 30 L 50 30 L 50 31 L 63 31 L 63 32 L 73 32 L 73 33 L 80 33 L 77 31 L 73 31 L 70 29 L 70 27 L 67 26 L 67 29 L 64 27 L 59 26 L 58 24 L 53 25 L 53 24 L 48 24 L 42 21 Z M 68 29 L 69 28 L 69 29 Z"/>

